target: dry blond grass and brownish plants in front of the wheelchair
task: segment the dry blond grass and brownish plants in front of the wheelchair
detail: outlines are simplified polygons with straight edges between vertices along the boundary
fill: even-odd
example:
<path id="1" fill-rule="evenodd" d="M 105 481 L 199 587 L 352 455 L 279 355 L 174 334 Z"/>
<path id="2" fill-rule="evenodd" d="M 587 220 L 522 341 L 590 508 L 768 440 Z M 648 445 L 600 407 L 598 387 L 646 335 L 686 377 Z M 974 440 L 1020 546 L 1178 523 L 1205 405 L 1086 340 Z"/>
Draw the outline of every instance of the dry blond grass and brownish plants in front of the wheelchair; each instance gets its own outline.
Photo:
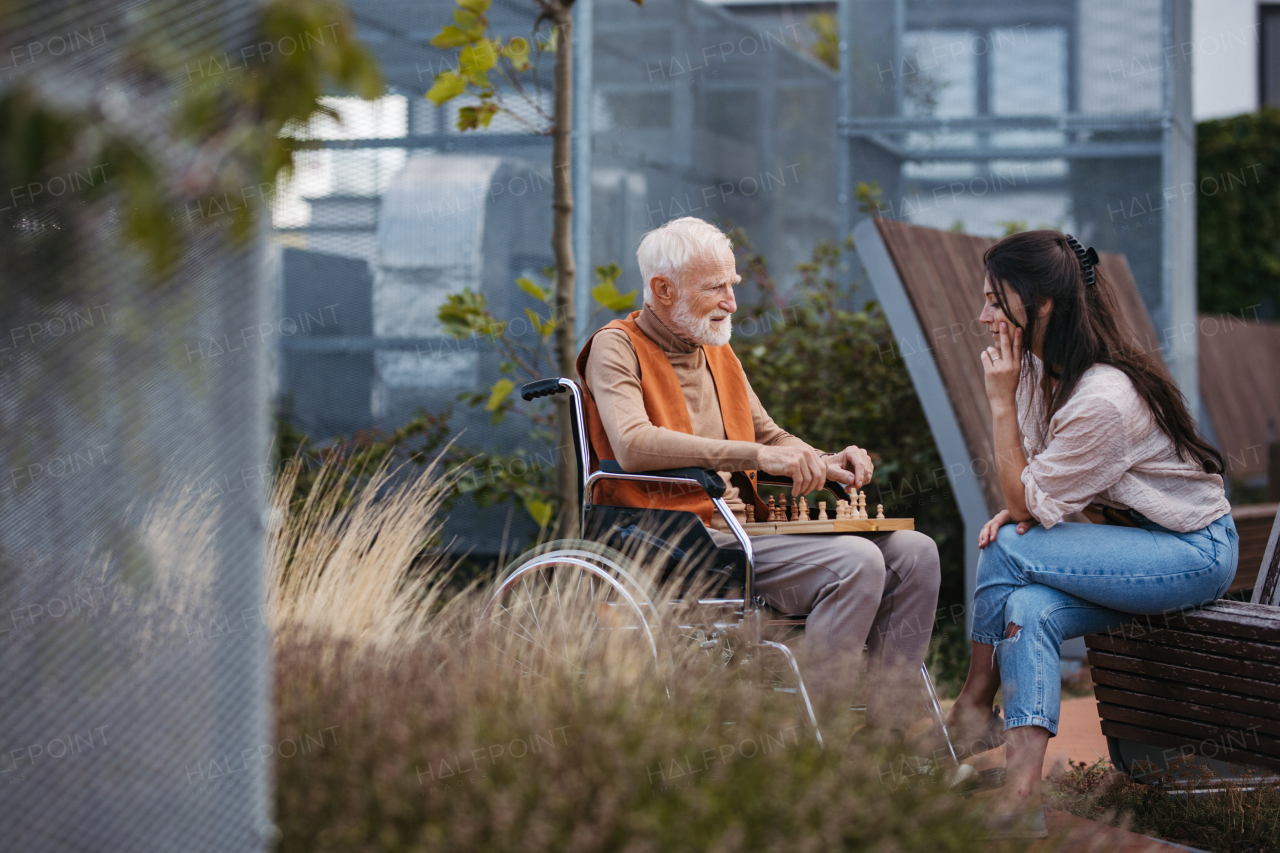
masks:
<path id="1" fill-rule="evenodd" d="M 580 576 L 530 583 L 481 624 L 488 589 L 445 599 L 447 566 L 415 562 L 438 473 L 383 473 L 346 508 L 315 494 L 296 519 L 289 492 L 276 726 L 332 739 L 276 763 L 279 850 L 1000 849 L 972 803 L 851 743 L 850 715 L 819 749 L 741 647 L 726 662 L 653 616 L 655 666 Z"/>

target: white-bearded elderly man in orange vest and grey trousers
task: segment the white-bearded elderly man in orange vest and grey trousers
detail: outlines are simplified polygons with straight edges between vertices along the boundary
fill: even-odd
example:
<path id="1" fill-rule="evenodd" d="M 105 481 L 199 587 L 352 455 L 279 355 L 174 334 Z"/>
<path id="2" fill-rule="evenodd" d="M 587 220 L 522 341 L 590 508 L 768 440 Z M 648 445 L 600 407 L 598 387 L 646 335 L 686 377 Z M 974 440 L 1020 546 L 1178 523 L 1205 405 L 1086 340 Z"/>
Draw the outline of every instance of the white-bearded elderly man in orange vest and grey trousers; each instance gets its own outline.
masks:
<path id="1" fill-rule="evenodd" d="M 756 470 L 785 474 L 804 494 L 836 480 L 872 478 L 867 451 L 814 450 L 781 429 L 751 389 L 728 347 L 730 315 L 741 280 L 728 238 L 692 216 L 645 234 L 637 252 L 644 307 L 596 332 L 577 357 L 586 388 L 588 432 L 598 459 L 628 471 L 698 466 L 722 471 L 733 496 L 763 505 Z M 673 494 L 637 483 L 604 482 L 605 505 L 678 508 L 710 521 L 701 493 Z M 730 496 L 732 497 L 732 496 Z M 721 547 L 736 540 L 712 532 Z M 844 680 L 863 644 L 879 684 L 915 678 L 938 598 L 938 552 L 916 532 L 867 535 L 769 535 L 753 539 L 756 590 L 777 610 L 808 613 L 810 658 L 826 680 Z M 888 676 L 893 678 L 888 678 Z M 890 727 L 901 712 L 896 690 L 870 697 L 872 719 Z M 879 701 L 877 701 L 877 697 Z"/>

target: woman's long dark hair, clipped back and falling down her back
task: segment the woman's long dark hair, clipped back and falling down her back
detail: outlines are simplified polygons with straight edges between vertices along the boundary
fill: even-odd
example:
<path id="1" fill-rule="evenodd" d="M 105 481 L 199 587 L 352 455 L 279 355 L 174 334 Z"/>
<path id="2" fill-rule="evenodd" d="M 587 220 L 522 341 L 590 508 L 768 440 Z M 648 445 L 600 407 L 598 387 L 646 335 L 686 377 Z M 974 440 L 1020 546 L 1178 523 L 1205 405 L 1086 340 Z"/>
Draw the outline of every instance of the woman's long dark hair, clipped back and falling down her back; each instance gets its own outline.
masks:
<path id="1" fill-rule="evenodd" d="M 982 260 L 1000 309 L 1010 323 L 1023 328 L 1024 369 L 1030 368 L 1030 342 L 1039 323 L 1037 309 L 1044 300 L 1053 300 L 1044 325 L 1044 373 L 1041 378 L 1046 429 L 1071 397 L 1084 371 L 1096 364 L 1107 364 L 1129 377 L 1156 424 L 1172 439 L 1179 459 L 1196 460 L 1210 474 L 1226 470 L 1222 455 L 1197 432 L 1187 411 L 1187 400 L 1161 362 L 1137 346 L 1132 333 L 1121 333 L 1123 320 L 1102 270 L 1094 266 L 1093 282 L 1085 286 L 1085 266 L 1064 234 L 1024 231 L 988 248 Z M 1010 313 L 1006 288 L 1021 297 L 1027 307 L 1025 325 Z"/>

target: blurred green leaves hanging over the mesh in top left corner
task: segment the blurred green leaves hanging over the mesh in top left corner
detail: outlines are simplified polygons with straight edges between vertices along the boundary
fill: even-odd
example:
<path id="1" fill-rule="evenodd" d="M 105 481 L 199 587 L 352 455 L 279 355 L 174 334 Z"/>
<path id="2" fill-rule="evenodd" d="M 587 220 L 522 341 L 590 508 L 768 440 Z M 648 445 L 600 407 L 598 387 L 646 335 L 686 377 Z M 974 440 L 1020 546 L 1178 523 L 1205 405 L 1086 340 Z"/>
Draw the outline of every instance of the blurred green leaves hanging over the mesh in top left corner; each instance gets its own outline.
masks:
<path id="1" fill-rule="evenodd" d="M 59 273 L 77 260 L 77 246 L 104 223 L 142 251 L 156 278 L 173 273 L 197 227 L 209 224 L 206 204 L 265 204 L 246 190 L 288 174 L 294 151 L 310 145 L 292 133 L 312 115 L 333 115 L 323 95 L 384 93 L 378 64 L 338 0 L 269 0 L 259 14 L 250 44 L 326 36 L 292 54 L 262 51 L 250 72 L 201 72 L 198 85 L 191 85 L 192 63 L 225 58 L 227 45 L 183 44 L 179 54 L 173 42 L 138 37 L 122 54 L 119 79 L 104 81 L 99 97 L 55 96 L 59 81 L 37 74 L 0 96 L 0 186 L 22 190 L 17 210 L 0 220 L 0 261 L 12 282 L 58 296 L 51 283 L 65 278 Z M 201 215 L 192 216 L 197 205 Z M 227 222 L 242 238 L 255 218 Z"/>

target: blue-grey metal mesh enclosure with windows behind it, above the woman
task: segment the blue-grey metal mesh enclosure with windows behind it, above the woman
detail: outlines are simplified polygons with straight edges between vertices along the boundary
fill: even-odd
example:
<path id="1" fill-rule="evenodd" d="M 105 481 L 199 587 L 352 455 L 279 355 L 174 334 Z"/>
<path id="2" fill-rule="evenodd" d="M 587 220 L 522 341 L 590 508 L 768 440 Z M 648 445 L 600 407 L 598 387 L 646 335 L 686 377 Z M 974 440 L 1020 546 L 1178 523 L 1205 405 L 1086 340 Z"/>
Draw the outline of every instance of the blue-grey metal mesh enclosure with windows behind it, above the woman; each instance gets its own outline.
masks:
<path id="1" fill-rule="evenodd" d="M 879 213 L 1121 252 L 1193 401 L 1190 6 L 1160 0 L 845 0 L 842 222 Z M 977 305 L 977 304 L 975 304 Z M 977 311 L 977 307 L 975 307 Z"/>

